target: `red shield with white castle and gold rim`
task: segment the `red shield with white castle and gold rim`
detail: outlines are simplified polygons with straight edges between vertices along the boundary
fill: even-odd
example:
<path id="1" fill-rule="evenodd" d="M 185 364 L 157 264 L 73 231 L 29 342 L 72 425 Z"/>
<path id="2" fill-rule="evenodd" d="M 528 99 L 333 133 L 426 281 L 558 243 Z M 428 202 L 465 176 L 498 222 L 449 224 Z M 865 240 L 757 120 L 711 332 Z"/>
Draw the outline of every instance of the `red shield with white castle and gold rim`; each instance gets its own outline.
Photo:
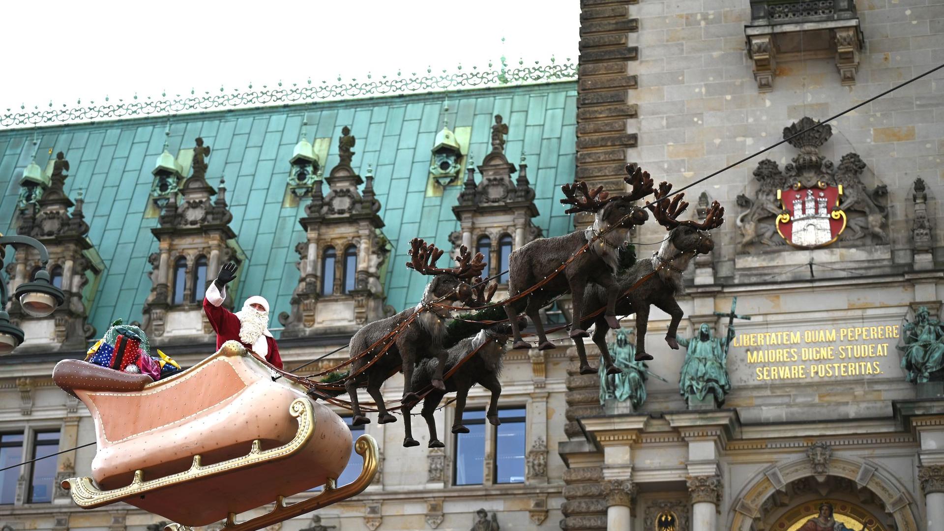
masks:
<path id="1" fill-rule="evenodd" d="M 818 182 L 813 187 L 778 190 L 784 214 L 777 216 L 777 231 L 790 245 L 819 248 L 832 244 L 846 229 L 846 213 L 838 209 L 842 186 Z"/>

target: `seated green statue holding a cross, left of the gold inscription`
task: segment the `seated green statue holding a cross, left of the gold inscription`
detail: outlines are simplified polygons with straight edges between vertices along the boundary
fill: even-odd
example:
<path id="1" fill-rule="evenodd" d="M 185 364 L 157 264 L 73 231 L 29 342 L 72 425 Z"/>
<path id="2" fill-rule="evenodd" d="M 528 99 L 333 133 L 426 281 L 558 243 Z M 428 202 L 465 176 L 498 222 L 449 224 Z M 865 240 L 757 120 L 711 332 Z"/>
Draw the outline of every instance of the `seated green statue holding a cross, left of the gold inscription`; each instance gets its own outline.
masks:
<path id="1" fill-rule="evenodd" d="M 734 313 L 737 298 L 731 304 L 731 312 L 715 312 L 718 317 L 728 317 L 728 333 L 722 337 L 715 337 L 708 323 L 701 323 L 699 332 L 687 339 L 676 337 L 679 345 L 685 347 L 685 362 L 679 378 L 679 391 L 689 404 L 703 403 L 706 398 L 714 399 L 714 403 L 724 403 L 725 396 L 731 392 L 731 381 L 728 379 L 728 349 L 734 338 L 734 319 L 750 319 L 750 316 L 739 316 Z"/>

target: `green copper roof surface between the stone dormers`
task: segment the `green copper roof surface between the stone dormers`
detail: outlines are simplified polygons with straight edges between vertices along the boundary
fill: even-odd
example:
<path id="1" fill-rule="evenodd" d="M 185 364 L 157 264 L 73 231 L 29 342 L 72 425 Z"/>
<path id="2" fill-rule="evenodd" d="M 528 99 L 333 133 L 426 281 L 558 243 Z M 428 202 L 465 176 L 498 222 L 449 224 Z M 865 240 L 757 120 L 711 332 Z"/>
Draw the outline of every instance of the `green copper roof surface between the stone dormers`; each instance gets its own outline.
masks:
<path id="1" fill-rule="evenodd" d="M 419 236 L 447 248 L 449 233 L 459 228 L 451 207 L 461 187 L 449 187 L 443 197 L 426 196 L 430 149 L 443 127 L 446 98 L 449 127 L 472 128 L 469 152 L 476 163 L 491 149 L 493 116 L 505 117 L 509 161 L 517 163 L 527 153 L 534 203 L 541 213 L 534 222 L 546 235 L 558 235 L 571 227 L 556 196 L 574 175 L 576 97 L 575 83 L 558 82 L 186 115 L 171 123 L 169 151 L 194 146 L 197 136 L 211 146 L 208 180 L 216 187 L 226 175 L 230 226 L 248 258 L 237 300 L 262 295 L 272 305 L 270 315 L 278 316 L 290 308 L 298 282 L 293 248 L 305 239 L 297 220 L 307 199 L 298 207 L 282 207 L 302 120 L 308 120 L 309 140 L 331 138 L 328 159 L 322 161 L 326 173 L 338 162 L 341 128 L 350 127 L 357 138 L 354 168 L 361 175 L 367 164 L 374 168 L 383 232 L 394 246 L 387 303 L 399 310 L 419 300 L 426 281 L 403 266 L 409 240 Z M 106 265 L 92 308 L 91 321 L 99 332 L 117 317 L 140 320 L 151 288 L 147 256 L 157 250 L 150 231 L 157 218 L 143 214 L 165 127 L 166 118 L 147 118 L 35 131 L 36 162 L 44 168 L 57 151 L 64 151 L 72 167 L 66 192 L 70 197 L 79 189 L 85 194 L 89 238 Z M 0 232 L 10 231 L 33 135 L 28 129 L 0 131 Z"/>

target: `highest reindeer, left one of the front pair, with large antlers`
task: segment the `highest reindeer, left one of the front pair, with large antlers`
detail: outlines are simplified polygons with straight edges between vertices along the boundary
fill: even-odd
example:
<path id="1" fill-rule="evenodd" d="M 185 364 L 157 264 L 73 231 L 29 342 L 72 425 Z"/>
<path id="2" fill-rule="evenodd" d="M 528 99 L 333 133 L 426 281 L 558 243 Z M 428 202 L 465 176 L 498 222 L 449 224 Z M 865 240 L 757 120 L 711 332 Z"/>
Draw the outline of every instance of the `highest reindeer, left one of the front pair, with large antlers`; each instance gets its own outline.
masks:
<path id="1" fill-rule="evenodd" d="M 531 317 L 537 331 L 540 345 L 538 350 L 553 349 L 554 344 L 548 341 L 538 310 L 550 299 L 569 290 L 573 293 L 574 322 L 570 329 L 570 337 L 586 337 L 588 334 L 580 325 L 580 316 L 584 306 L 583 293 L 587 283 L 596 283 L 610 293 L 606 301 L 606 313 L 603 318 L 611 328 L 619 328 L 616 320 L 615 304 L 618 285 L 614 274 L 618 269 L 618 250 L 626 242 L 629 232 L 634 225 L 641 225 L 649 215 L 642 208 L 632 205 L 632 202 L 646 197 L 653 192 L 652 180 L 649 172 L 642 171 L 635 164 L 627 164 L 627 177 L 623 180 L 632 185 L 632 192 L 625 196 L 608 197 L 599 186 L 593 192 L 587 189 L 586 182 L 577 182 L 573 185 L 565 184 L 561 187 L 566 196 L 561 199 L 564 204 L 574 205 L 567 209 L 566 214 L 575 212 L 592 212 L 595 214 L 594 223 L 585 231 L 573 231 L 565 236 L 542 238 L 515 249 L 508 260 L 509 296 L 530 288 L 536 283 L 548 279 L 540 289 L 535 290 L 527 297 L 525 313 Z M 582 199 L 576 197 L 580 191 Z M 569 259 L 574 253 L 590 242 L 595 236 L 598 240 L 582 252 L 567 265 L 563 274 L 550 278 L 554 269 Z M 512 322 L 514 332 L 514 349 L 529 349 L 531 345 L 521 338 L 521 333 L 515 322 L 515 311 L 511 304 L 505 305 L 505 312 Z M 607 372 L 615 374 L 622 372 L 613 365 L 609 354 L 604 358 Z M 586 357 L 581 355 L 581 373 L 597 372 L 590 367 Z"/>

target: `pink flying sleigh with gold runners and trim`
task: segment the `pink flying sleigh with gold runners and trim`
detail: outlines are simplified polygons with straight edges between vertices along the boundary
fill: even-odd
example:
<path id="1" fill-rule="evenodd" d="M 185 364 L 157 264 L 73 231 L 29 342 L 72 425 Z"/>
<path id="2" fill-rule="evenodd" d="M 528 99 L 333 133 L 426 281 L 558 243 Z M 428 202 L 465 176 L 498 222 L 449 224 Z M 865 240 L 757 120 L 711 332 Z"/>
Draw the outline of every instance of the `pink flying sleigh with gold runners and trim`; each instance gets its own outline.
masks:
<path id="1" fill-rule="evenodd" d="M 62 360 L 53 381 L 88 406 L 97 451 L 92 477 L 62 482 L 76 505 L 125 502 L 177 522 L 170 528 L 226 520 L 253 531 L 360 493 L 373 480 L 377 443 L 361 436 L 360 476 L 336 488 L 351 437 L 344 420 L 313 402 L 235 341 L 174 376 L 142 374 Z M 324 486 L 308 500 L 285 498 Z M 236 522 L 244 511 L 267 514 Z"/>

